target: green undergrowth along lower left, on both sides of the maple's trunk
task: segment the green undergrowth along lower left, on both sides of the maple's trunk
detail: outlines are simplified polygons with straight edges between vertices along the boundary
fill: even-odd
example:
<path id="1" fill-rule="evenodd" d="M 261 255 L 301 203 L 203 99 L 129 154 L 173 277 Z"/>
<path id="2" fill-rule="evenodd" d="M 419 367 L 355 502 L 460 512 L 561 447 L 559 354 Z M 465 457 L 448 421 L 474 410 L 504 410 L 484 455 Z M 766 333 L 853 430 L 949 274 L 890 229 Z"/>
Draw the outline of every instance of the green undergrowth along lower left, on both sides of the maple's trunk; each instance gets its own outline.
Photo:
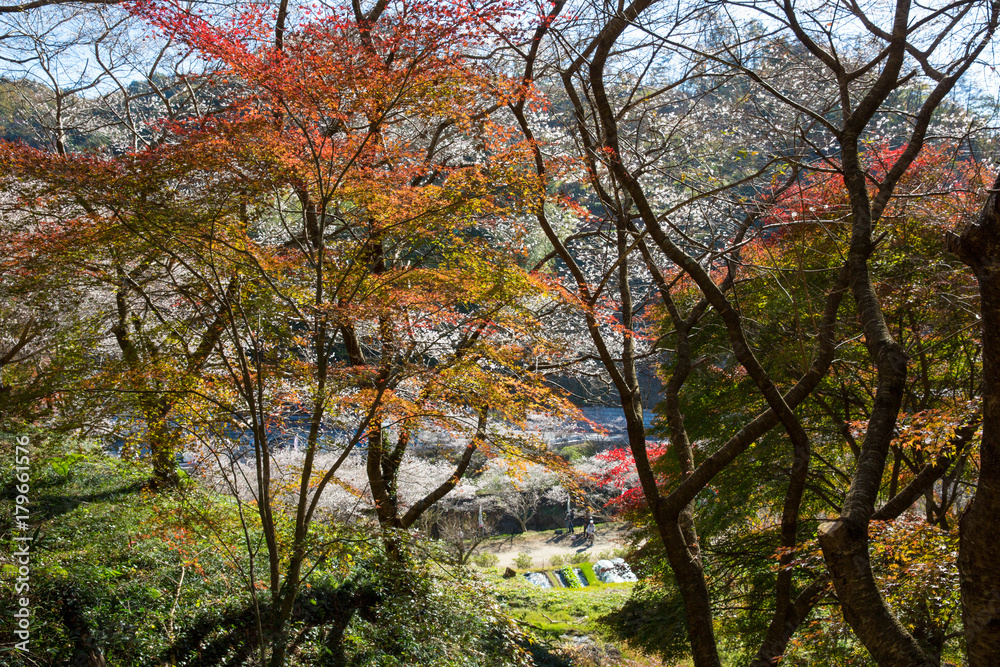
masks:
<path id="1" fill-rule="evenodd" d="M 266 560 L 239 553 L 246 535 L 232 498 L 194 483 L 152 494 L 145 488 L 150 472 L 99 453 L 66 474 L 50 462 L 33 471 L 36 613 L 23 664 L 71 664 L 95 648 L 108 665 L 252 662 L 260 642 L 253 606 L 269 611 L 246 583 Z M 261 539 L 259 527 L 250 525 L 248 534 Z M 419 540 L 407 545 L 409 559 L 395 563 L 361 526 L 324 526 L 317 539 L 328 548 L 310 564 L 297 600 L 289 664 L 520 665 L 531 664 L 532 652 L 549 653 L 540 642 L 559 644 L 551 628 L 536 635 L 530 619 L 519 622 L 517 605 L 529 605 L 530 593 L 495 569 L 487 575 L 455 566 L 439 546 Z M 3 568 L 4 585 L 12 585 L 17 567 Z M 508 606 L 508 596 L 517 602 Z M 581 605 L 577 616 L 593 618 L 614 602 Z M 20 664 L 9 647 L 0 657 Z"/>

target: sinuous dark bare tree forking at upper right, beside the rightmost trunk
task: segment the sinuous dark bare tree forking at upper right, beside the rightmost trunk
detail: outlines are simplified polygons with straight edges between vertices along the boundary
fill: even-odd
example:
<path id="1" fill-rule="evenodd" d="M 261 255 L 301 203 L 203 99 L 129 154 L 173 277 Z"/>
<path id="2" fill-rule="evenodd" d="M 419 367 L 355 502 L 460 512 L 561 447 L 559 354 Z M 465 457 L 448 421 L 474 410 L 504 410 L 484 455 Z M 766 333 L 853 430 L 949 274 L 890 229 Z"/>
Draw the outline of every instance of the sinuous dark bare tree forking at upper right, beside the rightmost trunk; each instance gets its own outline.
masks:
<path id="1" fill-rule="evenodd" d="M 835 17 L 831 5 L 827 16 Z M 851 294 L 877 384 L 858 465 L 837 521 L 820 528 L 820 545 L 847 622 L 880 664 L 932 664 L 878 593 L 868 558 L 868 521 L 876 511 L 879 489 L 895 425 L 904 396 L 907 360 L 899 340 L 888 327 L 871 266 L 876 261 L 876 225 L 903 175 L 923 148 L 934 111 L 973 65 L 993 37 L 1000 7 L 974 4 L 917 11 L 896 3 L 893 12 L 852 14 L 873 38 L 885 44 L 878 54 L 846 65 L 842 51 L 818 15 L 796 12 L 786 4 L 784 20 L 796 40 L 822 63 L 838 89 L 839 118 L 829 119 L 819 109 L 808 109 L 836 141 L 839 170 L 851 202 L 851 243 L 846 257 Z M 975 19 L 971 17 L 975 15 Z M 968 22 L 963 19 L 969 17 Z M 819 20 L 817 20 L 819 19 Z M 884 27 L 882 27 L 884 26 Z M 817 40 L 825 40 L 821 46 Z M 940 45 L 949 40 L 949 45 Z M 961 46 L 958 46 L 961 44 Z M 926 45 L 926 46 L 925 46 Z M 739 66 L 744 67 L 742 63 Z M 750 76 L 754 72 L 744 67 Z M 886 165 L 884 176 L 871 177 L 860 161 L 862 141 L 889 96 L 916 76 L 926 77 L 928 92 L 903 139 L 905 148 Z M 763 85 L 766 87 L 767 82 Z M 791 106 L 796 102 L 781 91 L 769 90 Z M 869 184 L 872 185 L 869 185 Z"/>

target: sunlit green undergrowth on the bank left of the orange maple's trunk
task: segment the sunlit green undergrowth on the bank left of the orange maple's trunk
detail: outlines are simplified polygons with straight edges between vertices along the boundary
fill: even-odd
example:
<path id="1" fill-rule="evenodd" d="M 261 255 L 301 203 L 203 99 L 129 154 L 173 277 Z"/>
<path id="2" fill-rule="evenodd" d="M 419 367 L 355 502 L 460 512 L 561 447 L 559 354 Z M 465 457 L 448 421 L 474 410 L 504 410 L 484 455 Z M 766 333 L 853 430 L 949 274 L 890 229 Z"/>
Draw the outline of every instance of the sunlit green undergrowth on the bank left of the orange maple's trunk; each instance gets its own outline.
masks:
<path id="1" fill-rule="evenodd" d="M 182 627 L 212 627 L 244 606 L 232 568 L 210 548 L 213 538 L 185 525 L 182 498 L 144 490 L 147 466 L 96 453 L 68 463 L 60 469 L 32 461 L 33 664 L 71 661 L 73 642 L 61 614 L 67 605 L 100 637 L 109 667 L 157 664 Z M 0 498 L 5 516 L 12 501 L 9 493 Z M 208 496 L 199 504 L 218 509 Z M 12 563 L 0 562 L 0 585 L 7 588 Z M 8 617 L 0 621 L 5 633 Z"/>

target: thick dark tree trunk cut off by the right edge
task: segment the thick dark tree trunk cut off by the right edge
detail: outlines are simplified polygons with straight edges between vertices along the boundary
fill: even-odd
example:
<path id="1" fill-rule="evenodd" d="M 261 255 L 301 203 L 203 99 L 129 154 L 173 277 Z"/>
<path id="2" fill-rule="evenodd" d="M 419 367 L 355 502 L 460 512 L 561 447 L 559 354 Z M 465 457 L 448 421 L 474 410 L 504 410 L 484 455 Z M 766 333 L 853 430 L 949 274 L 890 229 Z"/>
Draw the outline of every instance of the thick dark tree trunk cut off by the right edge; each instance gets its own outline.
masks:
<path id="1" fill-rule="evenodd" d="M 970 667 L 1000 660 L 1000 176 L 979 220 L 948 246 L 979 282 L 983 323 L 983 437 L 979 484 L 959 524 L 958 571 Z"/>

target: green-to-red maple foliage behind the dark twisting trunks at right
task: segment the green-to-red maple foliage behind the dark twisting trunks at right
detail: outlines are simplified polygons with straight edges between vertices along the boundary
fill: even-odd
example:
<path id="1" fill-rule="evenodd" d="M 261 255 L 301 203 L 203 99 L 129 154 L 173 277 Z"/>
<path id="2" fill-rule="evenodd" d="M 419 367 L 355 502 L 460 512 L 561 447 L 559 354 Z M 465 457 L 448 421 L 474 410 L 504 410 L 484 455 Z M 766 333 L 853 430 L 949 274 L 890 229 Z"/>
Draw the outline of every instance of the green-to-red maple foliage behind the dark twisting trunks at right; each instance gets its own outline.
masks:
<path id="1" fill-rule="evenodd" d="M 863 156 L 868 173 L 878 178 L 899 150 L 870 146 Z M 741 254 L 738 275 L 742 278 L 737 280 L 734 292 L 744 317 L 756 323 L 752 332 L 755 343 L 770 351 L 767 363 L 776 377 L 788 372 L 782 370 L 783 366 L 796 366 L 804 343 L 802 323 L 819 316 L 818 297 L 828 289 L 825 283 L 829 278 L 822 276 L 830 276 L 846 254 L 851 214 L 840 179 L 839 175 L 817 173 L 786 190 L 773 209 L 776 227 L 770 238 L 747 246 Z M 881 252 L 872 264 L 886 319 L 914 359 L 890 445 L 893 463 L 881 483 L 881 507 L 875 514 L 879 522 L 892 521 L 901 511 L 909 514 L 914 501 L 922 500 L 925 527 L 915 528 L 912 516 L 904 517 L 898 527 L 880 524 L 879 535 L 892 536 L 896 542 L 893 549 L 900 553 L 907 553 L 907 539 L 914 542 L 912 553 L 919 554 L 920 544 L 933 553 L 930 545 L 935 531 L 941 533 L 942 540 L 953 539 L 950 531 L 964 503 L 961 489 L 975 481 L 968 465 L 974 459 L 979 423 L 978 337 L 974 333 L 972 286 L 956 264 L 941 254 L 939 239 L 944 230 L 976 209 L 981 184 L 981 167 L 957 146 L 926 147 L 901 178 L 899 196 L 884 212 Z M 781 286 L 780 291 L 766 288 L 775 282 Z M 778 312 L 768 312 L 775 307 Z M 860 455 L 859 443 L 875 394 L 876 378 L 864 363 L 865 358 L 866 350 L 860 341 L 840 343 L 838 358 L 828 376 L 800 408 L 803 422 L 813 434 L 817 461 L 806 480 L 801 510 L 805 521 L 822 521 L 829 513 L 837 512 L 848 492 L 846 482 Z M 716 363 L 723 368 L 731 365 L 724 359 Z M 733 390 L 739 392 L 747 380 L 735 380 Z M 704 408 L 700 414 L 704 414 Z M 699 437 L 706 435 L 704 429 L 697 432 Z M 773 474 L 768 472 L 766 461 L 758 451 L 754 465 L 760 472 L 753 477 L 759 484 L 766 483 Z M 774 480 L 776 483 L 780 483 L 780 476 Z M 741 504 L 748 497 L 743 495 L 746 491 L 729 496 L 730 489 L 739 488 L 736 480 L 718 488 L 723 505 Z M 747 491 L 750 498 L 759 494 L 756 489 Z M 744 532 L 748 544 L 753 544 L 755 534 L 766 533 Z M 873 542 L 872 550 L 884 554 L 883 547 Z M 738 543 L 728 550 L 738 552 Z M 803 568 L 802 574 L 822 574 L 815 556 L 803 557 L 802 562 L 810 565 Z M 921 560 L 920 555 L 912 558 L 918 563 Z M 954 563 L 941 567 L 953 568 Z M 910 576 L 919 572 L 926 572 L 933 581 L 929 570 L 919 566 L 914 566 Z M 891 568 L 886 568 L 884 560 L 875 574 L 884 595 L 898 594 L 900 585 L 890 576 Z M 895 599 L 898 602 L 899 598 Z M 932 659 L 941 660 L 946 648 L 952 656 L 957 655 L 954 642 L 945 647 L 945 637 L 956 637 L 947 630 L 946 614 L 935 615 L 929 607 L 919 604 L 907 605 L 901 613 L 906 628 L 918 637 Z"/>

